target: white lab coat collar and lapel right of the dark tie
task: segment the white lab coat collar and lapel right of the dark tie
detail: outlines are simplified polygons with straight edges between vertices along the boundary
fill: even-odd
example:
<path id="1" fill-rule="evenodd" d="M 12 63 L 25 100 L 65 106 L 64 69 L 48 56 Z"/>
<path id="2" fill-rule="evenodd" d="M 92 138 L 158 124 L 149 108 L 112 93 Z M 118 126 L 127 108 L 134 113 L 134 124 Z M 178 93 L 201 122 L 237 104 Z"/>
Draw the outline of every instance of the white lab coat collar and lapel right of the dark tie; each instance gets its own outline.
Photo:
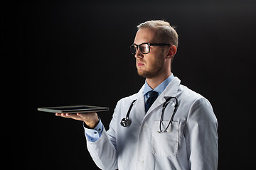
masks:
<path id="1" fill-rule="evenodd" d="M 160 96 L 156 98 L 156 101 L 154 101 L 146 115 L 149 115 L 149 113 L 154 111 L 155 108 L 161 106 L 166 101 L 166 98 L 176 97 L 178 93 L 178 86 L 180 83 L 181 80 L 178 79 L 178 77 L 174 77 L 174 79 L 168 84 L 168 86 L 166 86 L 166 89 L 163 91 L 163 93 L 161 93 Z"/>

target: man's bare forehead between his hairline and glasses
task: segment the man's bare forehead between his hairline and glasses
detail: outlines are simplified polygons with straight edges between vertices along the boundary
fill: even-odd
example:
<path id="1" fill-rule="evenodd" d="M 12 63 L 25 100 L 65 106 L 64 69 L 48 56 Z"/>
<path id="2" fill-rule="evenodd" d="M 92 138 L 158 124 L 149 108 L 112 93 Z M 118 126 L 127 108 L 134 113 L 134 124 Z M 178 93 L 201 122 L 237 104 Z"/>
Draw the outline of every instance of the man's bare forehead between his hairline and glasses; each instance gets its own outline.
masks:
<path id="1" fill-rule="evenodd" d="M 154 28 L 139 29 L 134 38 L 134 44 L 142 44 L 144 42 L 157 43 L 156 30 Z"/>

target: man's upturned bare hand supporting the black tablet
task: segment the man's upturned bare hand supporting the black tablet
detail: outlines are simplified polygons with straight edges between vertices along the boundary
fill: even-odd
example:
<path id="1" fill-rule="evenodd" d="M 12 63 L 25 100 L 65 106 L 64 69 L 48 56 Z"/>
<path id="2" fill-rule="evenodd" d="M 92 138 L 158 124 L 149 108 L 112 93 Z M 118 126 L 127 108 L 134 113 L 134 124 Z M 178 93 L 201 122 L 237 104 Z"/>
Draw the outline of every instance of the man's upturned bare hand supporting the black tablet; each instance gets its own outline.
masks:
<path id="1" fill-rule="evenodd" d="M 99 118 L 97 117 L 97 113 L 55 113 L 57 116 L 61 116 L 63 118 L 73 118 L 74 120 L 81 120 L 84 121 L 85 124 L 94 129 L 97 124 L 99 123 Z"/>

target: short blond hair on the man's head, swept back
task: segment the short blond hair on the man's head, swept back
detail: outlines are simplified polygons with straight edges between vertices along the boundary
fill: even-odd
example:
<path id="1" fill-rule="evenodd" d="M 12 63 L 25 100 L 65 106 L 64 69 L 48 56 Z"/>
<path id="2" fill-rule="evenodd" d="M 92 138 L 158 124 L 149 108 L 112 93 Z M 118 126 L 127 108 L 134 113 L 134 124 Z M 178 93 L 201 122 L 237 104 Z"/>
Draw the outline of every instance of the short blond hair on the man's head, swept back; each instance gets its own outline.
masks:
<path id="1" fill-rule="evenodd" d="M 166 43 L 171 43 L 171 45 L 178 47 L 178 33 L 176 33 L 176 30 L 170 25 L 169 22 L 162 20 L 146 21 L 144 23 L 140 23 L 137 26 L 138 30 L 142 28 L 156 29 L 159 37 L 162 40 L 166 41 Z"/>

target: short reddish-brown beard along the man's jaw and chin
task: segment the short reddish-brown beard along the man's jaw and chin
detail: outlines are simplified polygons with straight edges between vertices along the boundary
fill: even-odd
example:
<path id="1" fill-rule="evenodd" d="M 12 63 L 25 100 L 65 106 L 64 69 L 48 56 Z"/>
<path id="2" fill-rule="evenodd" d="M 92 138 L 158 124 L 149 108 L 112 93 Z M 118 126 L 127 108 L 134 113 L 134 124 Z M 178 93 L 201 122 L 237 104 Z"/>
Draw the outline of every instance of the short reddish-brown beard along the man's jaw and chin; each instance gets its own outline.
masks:
<path id="1" fill-rule="evenodd" d="M 149 68 L 149 70 L 139 70 L 137 72 L 139 76 L 144 78 L 154 78 L 161 73 L 162 69 L 164 69 L 164 58 L 159 57 L 156 61 L 154 61 Z"/>

